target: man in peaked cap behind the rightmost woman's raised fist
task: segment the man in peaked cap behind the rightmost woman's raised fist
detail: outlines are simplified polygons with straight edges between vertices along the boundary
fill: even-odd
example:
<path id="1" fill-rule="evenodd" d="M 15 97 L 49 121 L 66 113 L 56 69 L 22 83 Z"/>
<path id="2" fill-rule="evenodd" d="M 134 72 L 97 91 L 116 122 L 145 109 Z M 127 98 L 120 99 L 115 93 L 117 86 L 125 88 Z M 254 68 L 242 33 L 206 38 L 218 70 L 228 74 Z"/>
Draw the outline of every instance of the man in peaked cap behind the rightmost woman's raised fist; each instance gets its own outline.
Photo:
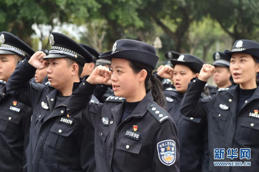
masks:
<path id="1" fill-rule="evenodd" d="M 215 73 L 213 74 L 213 80 L 217 84 L 215 86 L 207 86 L 209 88 L 210 94 L 216 94 L 219 88 L 229 88 L 233 84 L 230 80 L 231 73 L 229 70 L 230 59 L 229 57 L 222 52 L 215 52 L 213 54 L 214 63 L 212 65 L 215 66 Z"/>

